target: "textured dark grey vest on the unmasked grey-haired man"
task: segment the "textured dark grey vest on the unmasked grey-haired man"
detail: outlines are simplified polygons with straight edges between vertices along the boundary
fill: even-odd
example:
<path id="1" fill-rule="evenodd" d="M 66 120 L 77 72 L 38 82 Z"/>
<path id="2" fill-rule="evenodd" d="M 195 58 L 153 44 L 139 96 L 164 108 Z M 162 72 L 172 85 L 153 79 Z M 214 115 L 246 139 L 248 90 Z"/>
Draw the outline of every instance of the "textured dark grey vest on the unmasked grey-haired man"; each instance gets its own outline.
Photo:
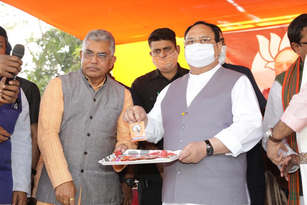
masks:
<path id="1" fill-rule="evenodd" d="M 110 155 L 115 148 L 125 88 L 106 77 L 104 85 L 95 92 L 81 68 L 59 78 L 64 97 L 59 137 L 78 191 L 75 200 L 78 202 L 82 184 L 82 205 L 119 205 L 122 202 L 119 176 L 112 166 L 102 166 L 98 161 Z M 45 166 L 36 198 L 46 203 L 61 204 L 55 198 Z"/>

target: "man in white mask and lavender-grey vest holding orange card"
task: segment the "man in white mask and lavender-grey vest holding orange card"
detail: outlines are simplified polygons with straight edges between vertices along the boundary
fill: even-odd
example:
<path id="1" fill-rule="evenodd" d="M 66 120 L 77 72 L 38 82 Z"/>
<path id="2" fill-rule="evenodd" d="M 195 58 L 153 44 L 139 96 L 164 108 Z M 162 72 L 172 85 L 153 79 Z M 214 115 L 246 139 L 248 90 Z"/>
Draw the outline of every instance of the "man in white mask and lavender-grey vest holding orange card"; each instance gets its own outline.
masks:
<path id="1" fill-rule="evenodd" d="M 182 150 L 165 163 L 164 205 L 250 204 L 246 152 L 261 139 L 262 116 L 249 79 L 221 67 L 219 30 L 196 22 L 185 31 L 191 68 L 166 86 L 149 114 L 130 107 L 123 118 L 143 121 L 147 141 L 164 138 L 164 149 Z"/>

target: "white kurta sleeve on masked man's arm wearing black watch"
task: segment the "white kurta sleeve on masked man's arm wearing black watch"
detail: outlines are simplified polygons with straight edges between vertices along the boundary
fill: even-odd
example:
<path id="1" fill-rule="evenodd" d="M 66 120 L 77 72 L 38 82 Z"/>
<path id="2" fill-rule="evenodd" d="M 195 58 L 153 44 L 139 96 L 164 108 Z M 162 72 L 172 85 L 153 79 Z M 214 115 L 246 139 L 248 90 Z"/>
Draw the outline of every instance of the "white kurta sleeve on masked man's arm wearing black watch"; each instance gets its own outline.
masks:
<path id="1" fill-rule="evenodd" d="M 233 123 L 216 136 L 237 157 L 262 138 L 262 115 L 250 80 L 243 75 L 231 91 Z"/>

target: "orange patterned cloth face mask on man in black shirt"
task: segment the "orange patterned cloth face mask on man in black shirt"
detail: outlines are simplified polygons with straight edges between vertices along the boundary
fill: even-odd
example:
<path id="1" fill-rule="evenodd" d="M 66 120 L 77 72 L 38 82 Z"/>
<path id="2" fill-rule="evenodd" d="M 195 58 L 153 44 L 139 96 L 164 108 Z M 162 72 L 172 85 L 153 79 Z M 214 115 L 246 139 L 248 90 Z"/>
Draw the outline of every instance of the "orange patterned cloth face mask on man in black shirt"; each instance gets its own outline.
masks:
<path id="1" fill-rule="evenodd" d="M 157 66 L 157 68 L 163 72 L 169 72 L 171 71 L 177 64 L 178 61 L 178 52 L 175 50 L 172 54 L 164 57 L 153 57 L 151 56 L 151 59 L 153 61 L 153 64 Z"/>

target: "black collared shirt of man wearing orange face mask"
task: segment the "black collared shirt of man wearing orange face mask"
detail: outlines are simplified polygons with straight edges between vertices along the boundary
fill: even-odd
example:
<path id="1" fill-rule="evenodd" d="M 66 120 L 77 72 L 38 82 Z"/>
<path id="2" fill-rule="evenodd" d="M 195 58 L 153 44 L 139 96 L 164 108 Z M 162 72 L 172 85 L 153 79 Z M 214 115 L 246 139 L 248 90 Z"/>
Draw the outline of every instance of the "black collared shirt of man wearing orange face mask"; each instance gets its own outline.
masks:
<path id="1" fill-rule="evenodd" d="M 165 78 L 160 70 L 156 69 L 136 78 L 132 83 L 131 88 L 137 92 L 141 106 L 145 109 L 146 113 L 149 113 L 153 108 L 161 90 L 174 80 L 188 74 L 188 69 L 182 68 L 179 63 L 177 64 L 178 71 L 171 80 Z M 163 150 L 163 138 L 156 144 L 156 146 L 160 150 Z M 162 183 L 162 178 L 155 164 L 139 164 L 135 178 Z"/>

